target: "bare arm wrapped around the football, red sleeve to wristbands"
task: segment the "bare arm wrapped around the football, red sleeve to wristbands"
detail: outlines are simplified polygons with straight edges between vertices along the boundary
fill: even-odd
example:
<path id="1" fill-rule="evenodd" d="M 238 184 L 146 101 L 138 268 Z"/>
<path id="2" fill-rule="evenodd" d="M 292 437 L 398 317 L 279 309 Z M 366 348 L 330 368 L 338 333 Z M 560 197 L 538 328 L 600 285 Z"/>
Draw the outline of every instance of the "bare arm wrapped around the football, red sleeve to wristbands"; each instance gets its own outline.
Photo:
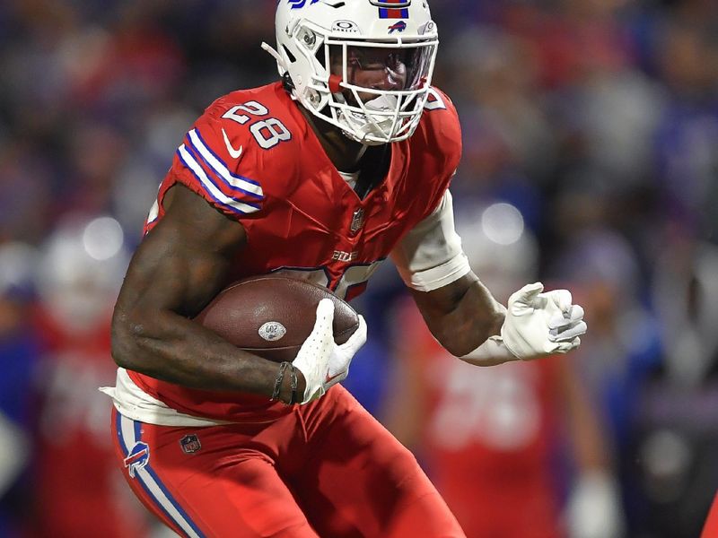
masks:
<path id="1" fill-rule="evenodd" d="M 233 256 L 247 247 L 244 229 L 181 185 L 171 188 L 164 206 L 164 218 L 137 249 L 119 293 L 115 361 L 182 386 L 272 395 L 275 362 L 191 320 L 226 282 Z M 280 399 L 289 401 L 290 392 L 287 377 Z"/>

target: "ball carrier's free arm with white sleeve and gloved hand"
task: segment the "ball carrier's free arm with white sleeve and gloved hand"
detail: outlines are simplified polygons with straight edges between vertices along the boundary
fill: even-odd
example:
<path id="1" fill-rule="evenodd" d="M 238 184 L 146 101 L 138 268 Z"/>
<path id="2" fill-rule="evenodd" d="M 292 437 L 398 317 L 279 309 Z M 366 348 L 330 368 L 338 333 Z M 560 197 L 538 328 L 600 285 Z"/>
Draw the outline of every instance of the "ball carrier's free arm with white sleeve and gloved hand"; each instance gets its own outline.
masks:
<path id="1" fill-rule="evenodd" d="M 494 299 L 463 253 L 450 192 L 391 256 L 434 337 L 471 364 L 565 353 L 586 332 L 583 309 L 572 304 L 569 291 L 544 292 L 535 282 L 513 293 L 505 307 Z"/>

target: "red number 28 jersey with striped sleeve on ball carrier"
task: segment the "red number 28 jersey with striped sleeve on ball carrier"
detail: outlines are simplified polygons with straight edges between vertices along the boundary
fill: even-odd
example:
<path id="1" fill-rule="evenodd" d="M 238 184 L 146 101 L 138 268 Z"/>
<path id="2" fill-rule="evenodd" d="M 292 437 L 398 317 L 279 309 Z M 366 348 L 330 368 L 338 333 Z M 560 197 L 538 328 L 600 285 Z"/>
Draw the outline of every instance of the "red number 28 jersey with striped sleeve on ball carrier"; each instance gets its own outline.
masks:
<path id="1" fill-rule="evenodd" d="M 216 100 L 188 132 L 146 225 L 162 219 L 176 183 L 241 221 L 249 247 L 228 284 L 292 273 L 352 299 L 381 260 L 438 206 L 459 165 L 461 135 L 451 101 L 432 90 L 416 133 L 391 144 L 390 169 L 362 200 L 324 152 L 280 82 Z M 137 386 L 180 412 L 237 420 L 286 412 L 267 398 L 192 390 L 131 372 Z"/>

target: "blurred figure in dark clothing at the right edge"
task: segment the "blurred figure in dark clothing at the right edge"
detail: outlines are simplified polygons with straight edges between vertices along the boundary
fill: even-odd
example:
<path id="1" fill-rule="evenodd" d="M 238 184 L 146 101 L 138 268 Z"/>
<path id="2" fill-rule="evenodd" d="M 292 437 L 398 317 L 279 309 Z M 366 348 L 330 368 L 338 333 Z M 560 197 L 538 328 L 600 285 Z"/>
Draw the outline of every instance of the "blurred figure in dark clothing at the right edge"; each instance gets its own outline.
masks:
<path id="1" fill-rule="evenodd" d="M 701 534 L 718 484 L 718 247 L 679 226 L 665 242 L 652 281 L 663 360 L 635 391 L 626 460 L 644 501 L 639 530 L 690 538 Z"/>

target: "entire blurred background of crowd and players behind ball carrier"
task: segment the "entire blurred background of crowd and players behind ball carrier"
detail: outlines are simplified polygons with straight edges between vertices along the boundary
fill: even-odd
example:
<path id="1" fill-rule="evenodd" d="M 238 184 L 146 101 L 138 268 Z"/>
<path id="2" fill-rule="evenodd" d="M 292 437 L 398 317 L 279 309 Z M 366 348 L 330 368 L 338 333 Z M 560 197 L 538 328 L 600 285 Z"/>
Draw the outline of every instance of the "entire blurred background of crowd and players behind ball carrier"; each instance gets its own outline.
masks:
<path id="1" fill-rule="evenodd" d="M 109 315 L 183 134 L 276 80 L 275 5 L 0 2 L 0 537 L 163 534 L 110 453 Z M 502 301 L 569 288 L 590 332 L 472 368 L 386 264 L 346 385 L 469 538 L 696 537 L 718 486 L 718 4 L 432 7 L 472 266 Z"/>

